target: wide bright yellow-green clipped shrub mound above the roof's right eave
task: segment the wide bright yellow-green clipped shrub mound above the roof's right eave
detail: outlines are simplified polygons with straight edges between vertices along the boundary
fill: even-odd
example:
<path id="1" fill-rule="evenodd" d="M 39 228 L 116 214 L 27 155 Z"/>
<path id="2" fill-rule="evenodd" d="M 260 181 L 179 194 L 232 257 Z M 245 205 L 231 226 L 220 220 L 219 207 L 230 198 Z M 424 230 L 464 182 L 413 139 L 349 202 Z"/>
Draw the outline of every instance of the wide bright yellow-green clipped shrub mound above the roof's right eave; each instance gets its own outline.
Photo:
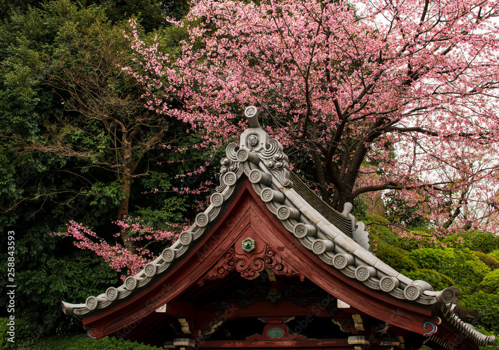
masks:
<path id="1" fill-rule="evenodd" d="M 409 257 L 422 269 L 433 269 L 449 276 L 466 294 L 491 271 L 468 248 L 419 248 L 411 251 Z"/>

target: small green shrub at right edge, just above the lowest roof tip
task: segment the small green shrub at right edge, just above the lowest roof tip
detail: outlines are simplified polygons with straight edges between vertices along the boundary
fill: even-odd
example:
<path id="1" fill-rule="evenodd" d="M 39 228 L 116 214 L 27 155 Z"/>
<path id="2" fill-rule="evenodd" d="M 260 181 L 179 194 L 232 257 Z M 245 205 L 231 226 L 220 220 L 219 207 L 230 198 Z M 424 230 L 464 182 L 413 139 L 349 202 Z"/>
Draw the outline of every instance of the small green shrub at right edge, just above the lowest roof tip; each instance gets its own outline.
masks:
<path id="1" fill-rule="evenodd" d="M 469 310 L 477 310 L 482 315 L 478 325 L 499 334 L 499 294 L 479 291 L 463 298 L 461 305 Z"/>

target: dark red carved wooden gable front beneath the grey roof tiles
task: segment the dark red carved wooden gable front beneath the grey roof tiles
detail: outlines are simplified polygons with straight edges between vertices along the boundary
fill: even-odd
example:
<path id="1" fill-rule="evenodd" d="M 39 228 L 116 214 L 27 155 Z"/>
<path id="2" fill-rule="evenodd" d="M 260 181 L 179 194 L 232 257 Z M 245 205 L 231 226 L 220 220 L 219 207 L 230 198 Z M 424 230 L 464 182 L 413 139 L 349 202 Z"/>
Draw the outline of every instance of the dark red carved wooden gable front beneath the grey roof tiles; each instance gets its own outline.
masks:
<path id="1" fill-rule="evenodd" d="M 243 249 L 242 242 L 246 238 L 254 240 L 254 249 L 250 252 Z M 396 338 L 404 338 L 403 335 L 411 342 L 416 341 L 416 336 L 421 345 L 424 337 L 420 334 L 430 330 L 425 329 L 425 322 L 439 322 L 427 308 L 394 301 L 366 286 L 359 286 L 310 256 L 309 251 L 295 240 L 269 212 L 246 179 L 210 232 L 181 261 L 146 290 L 84 319 L 83 325 L 95 338 L 114 336 L 156 346 L 165 343 L 173 346 L 174 339 L 181 338 L 184 342 L 191 339 L 192 345 L 200 348 L 353 349 L 352 346 L 361 346 L 376 334 L 378 328 L 380 332 L 376 339 L 379 344 L 372 349 L 390 349 L 396 343 L 405 343 Z M 312 292 L 300 295 L 288 291 L 286 294 L 286 278 L 291 282 L 286 286 L 287 290 L 293 282 L 299 289 L 299 282 L 308 281 L 304 291 L 315 287 L 316 296 Z M 264 298 L 260 293 L 229 299 L 231 294 L 241 290 L 239 287 L 245 286 L 245 279 L 262 280 Z M 273 301 L 272 293 L 278 295 Z M 298 329 L 312 327 L 313 322 L 320 324 L 324 332 L 322 337 L 326 338 L 317 342 L 300 334 L 289 334 L 286 332 L 288 323 L 284 324 L 284 321 L 293 317 L 301 321 L 297 324 Z M 266 318 L 268 323 L 258 321 L 258 318 Z M 214 331 L 223 332 L 224 323 L 238 319 L 256 321 L 261 325 L 260 330 L 249 327 L 249 330 L 257 331 L 256 335 L 246 334 L 236 340 L 226 336 L 228 339 L 211 341 L 212 337 L 207 337 Z M 316 319 L 326 320 L 327 327 Z M 387 328 L 385 333 L 381 332 L 384 328 Z M 282 336 L 272 338 L 273 333 L 269 330 L 280 334 L 278 329 L 282 329 Z M 327 338 L 327 333 L 334 337 Z M 414 335 L 407 338 L 411 333 Z M 196 341 L 199 337 L 203 340 Z M 385 345 L 381 345 L 382 342 Z M 411 348 L 406 344 L 406 349 Z"/>

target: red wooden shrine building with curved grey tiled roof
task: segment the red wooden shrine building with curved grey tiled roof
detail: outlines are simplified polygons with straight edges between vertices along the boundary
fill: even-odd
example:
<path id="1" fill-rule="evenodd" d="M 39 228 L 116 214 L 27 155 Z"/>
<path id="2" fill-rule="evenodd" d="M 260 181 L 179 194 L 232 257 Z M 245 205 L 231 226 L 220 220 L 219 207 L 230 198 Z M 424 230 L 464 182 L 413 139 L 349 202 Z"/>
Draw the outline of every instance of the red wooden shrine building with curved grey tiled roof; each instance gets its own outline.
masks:
<path id="1" fill-rule="evenodd" d="M 370 252 L 362 222 L 289 170 L 256 108 L 220 185 L 172 246 L 119 287 L 62 302 L 91 338 L 161 349 L 468 350 L 492 344 L 434 291 Z"/>

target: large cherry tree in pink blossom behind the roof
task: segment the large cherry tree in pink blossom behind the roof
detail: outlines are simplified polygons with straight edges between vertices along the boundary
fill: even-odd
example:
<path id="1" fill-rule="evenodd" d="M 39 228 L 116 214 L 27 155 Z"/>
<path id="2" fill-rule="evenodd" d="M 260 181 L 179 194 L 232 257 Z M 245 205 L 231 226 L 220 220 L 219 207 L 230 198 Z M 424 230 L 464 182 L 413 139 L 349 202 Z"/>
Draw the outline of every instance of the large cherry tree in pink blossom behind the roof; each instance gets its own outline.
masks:
<path id="1" fill-rule="evenodd" d="M 206 142 L 255 105 L 308 150 L 334 208 L 394 191 L 442 227 L 498 232 L 498 1 L 201 0 L 178 55 L 126 34 L 149 107 Z M 178 107 L 178 106 L 181 107 Z M 426 209 L 431 209 L 426 211 Z"/>

